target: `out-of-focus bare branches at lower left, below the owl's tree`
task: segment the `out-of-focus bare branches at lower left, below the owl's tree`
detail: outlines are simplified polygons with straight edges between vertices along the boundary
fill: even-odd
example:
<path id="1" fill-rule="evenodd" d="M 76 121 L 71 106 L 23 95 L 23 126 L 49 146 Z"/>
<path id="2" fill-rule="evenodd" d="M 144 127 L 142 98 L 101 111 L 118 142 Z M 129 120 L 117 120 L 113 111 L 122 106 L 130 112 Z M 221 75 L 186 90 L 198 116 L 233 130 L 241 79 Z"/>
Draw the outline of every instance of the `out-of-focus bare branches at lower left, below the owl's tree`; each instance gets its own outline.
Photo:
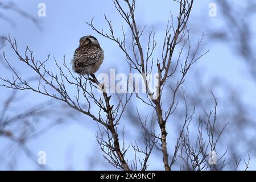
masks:
<path id="1" fill-rule="evenodd" d="M 27 146 L 27 143 L 46 133 L 53 126 L 63 122 L 63 116 L 57 117 L 61 113 L 57 108 L 59 105 L 52 101 L 38 103 L 26 110 L 18 109 L 15 105 L 22 105 L 24 100 L 19 98 L 16 90 L 2 102 L 0 115 L 0 167 L 9 166 L 15 169 L 15 154 L 23 151 L 29 159 L 39 168 L 47 168 L 38 165 L 38 157 Z M 70 115 L 71 113 L 69 113 Z M 71 117 L 72 115 L 70 115 Z M 51 117 L 52 119 L 48 119 Z M 66 115 L 68 117 L 68 115 Z M 46 119 L 49 120 L 45 121 Z M 10 157 L 13 156 L 13 157 Z"/>

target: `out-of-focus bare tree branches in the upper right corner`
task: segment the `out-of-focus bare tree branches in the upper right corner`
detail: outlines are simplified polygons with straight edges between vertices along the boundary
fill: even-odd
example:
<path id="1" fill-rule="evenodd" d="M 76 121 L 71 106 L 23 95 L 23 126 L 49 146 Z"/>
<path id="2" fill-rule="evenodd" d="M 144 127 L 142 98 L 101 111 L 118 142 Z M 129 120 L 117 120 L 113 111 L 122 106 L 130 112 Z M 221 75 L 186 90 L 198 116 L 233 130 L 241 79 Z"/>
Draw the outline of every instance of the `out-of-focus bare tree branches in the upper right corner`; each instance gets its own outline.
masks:
<path id="1" fill-rule="evenodd" d="M 248 65 L 251 76 L 255 79 L 255 51 L 254 51 L 254 27 L 251 22 L 254 21 L 256 3 L 244 1 L 244 8 L 240 8 L 240 3 L 233 1 L 217 1 L 218 12 L 225 22 L 220 28 L 211 30 L 208 28 L 209 36 L 213 40 L 230 43 L 226 44 L 232 51 L 241 56 Z"/>

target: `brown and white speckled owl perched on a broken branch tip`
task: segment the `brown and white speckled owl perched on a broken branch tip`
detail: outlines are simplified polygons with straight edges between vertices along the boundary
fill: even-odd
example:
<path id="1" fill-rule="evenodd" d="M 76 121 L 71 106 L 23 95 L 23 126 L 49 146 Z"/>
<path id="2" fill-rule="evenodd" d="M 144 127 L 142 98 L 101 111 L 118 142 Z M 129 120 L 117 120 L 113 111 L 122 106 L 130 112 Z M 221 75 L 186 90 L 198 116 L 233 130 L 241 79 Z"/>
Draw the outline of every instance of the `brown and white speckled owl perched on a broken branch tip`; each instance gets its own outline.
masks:
<path id="1" fill-rule="evenodd" d="M 104 59 L 104 51 L 94 36 L 83 36 L 72 60 L 73 71 L 90 75 L 98 71 Z"/>

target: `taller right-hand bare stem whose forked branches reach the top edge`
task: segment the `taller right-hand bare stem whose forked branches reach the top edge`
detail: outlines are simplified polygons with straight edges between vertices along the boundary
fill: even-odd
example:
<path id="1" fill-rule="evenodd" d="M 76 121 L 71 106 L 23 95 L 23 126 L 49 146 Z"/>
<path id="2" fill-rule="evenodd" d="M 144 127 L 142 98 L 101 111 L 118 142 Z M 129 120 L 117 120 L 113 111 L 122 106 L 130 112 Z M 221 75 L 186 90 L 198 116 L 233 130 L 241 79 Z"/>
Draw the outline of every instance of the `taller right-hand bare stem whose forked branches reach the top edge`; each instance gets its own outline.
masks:
<path id="1" fill-rule="evenodd" d="M 131 31 L 132 44 L 127 46 L 126 42 L 126 34 L 123 30 L 123 39 L 117 38 L 114 35 L 114 30 L 112 28 L 111 21 L 105 16 L 106 22 L 109 24 L 110 33 L 105 33 L 103 30 L 98 30 L 94 25 L 93 21 L 88 23 L 90 27 L 93 28 L 98 34 L 105 36 L 106 38 L 113 40 L 118 46 L 122 49 L 123 53 L 125 53 L 127 62 L 132 69 L 140 73 L 143 77 L 144 84 L 146 85 L 146 91 L 148 100 L 145 100 L 141 96 L 137 94 L 137 97 L 146 105 L 151 106 L 157 115 L 159 128 L 161 131 L 160 141 L 163 153 L 163 163 L 164 168 L 169 171 L 170 164 L 168 159 L 168 151 L 167 151 L 167 131 L 166 131 L 166 123 L 170 115 L 176 109 L 176 100 L 175 95 L 177 90 L 179 90 L 180 86 L 184 82 L 185 75 L 187 74 L 189 68 L 191 68 L 192 64 L 194 64 L 197 60 L 199 60 L 203 55 L 197 56 L 197 51 L 199 49 L 201 39 L 197 44 L 196 51 L 191 53 L 190 49 L 190 40 L 189 40 L 189 30 L 187 29 L 187 21 L 189 19 L 189 15 L 191 13 L 193 0 L 192 1 L 179 1 L 179 15 L 177 16 L 176 26 L 174 25 L 174 19 L 171 15 L 171 23 L 167 24 L 165 38 L 162 47 L 162 57 L 160 59 L 154 60 L 152 55 L 154 53 L 154 49 L 156 47 L 156 41 L 154 38 L 154 31 L 151 30 L 148 35 L 148 43 L 147 47 L 143 48 L 141 43 L 141 36 L 143 34 L 143 30 L 138 30 L 137 23 L 135 20 L 135 1 L 125 1 L 127 5 L 128 11 L 125 10 L 125 7 L 121 5 L 119 1 L 113 1 L 115 8 L 118 13 L 122 16 L 125 22 L 128 24 Z M 173 55 L 176 51 L 177 45 L 181 44 L 181 51 L 179 52 L 179 57 L 176 60 L 176 63 L 173 63 L 174 59 Z M 181 63 L 180 72 L 182 73 L 180 79 L 177 81 L 174 88 L 171 88 L 173 97 L 172 103 L 168 107 L 166 111 L 163 112 L 162 109 L 162 93 L 164 86 L 167 84 L 168 80 L 176 73 L 177 68 L 180 66 L 181 55 L 183 54 L 183 48 L 188 46 L 187 57 L 184 63 Z M 132 51 L 129 52 L 127 47 L 132 47 Z M 146 52 L 143 52 L 143 49 L 146 49 Z M 192 58 L 190 59 L 189 55 L 192 54 Z M 171 65 L 174 64 L 174 65 Z M 152 70 L 156 70 L 158 73 L 158 88 L 157 88 L 157 98 L 154 98 L 152 95 L 152 91 L 148 87 L 149 80 L 147 80 L 147 76 L 152 73 Z"/>

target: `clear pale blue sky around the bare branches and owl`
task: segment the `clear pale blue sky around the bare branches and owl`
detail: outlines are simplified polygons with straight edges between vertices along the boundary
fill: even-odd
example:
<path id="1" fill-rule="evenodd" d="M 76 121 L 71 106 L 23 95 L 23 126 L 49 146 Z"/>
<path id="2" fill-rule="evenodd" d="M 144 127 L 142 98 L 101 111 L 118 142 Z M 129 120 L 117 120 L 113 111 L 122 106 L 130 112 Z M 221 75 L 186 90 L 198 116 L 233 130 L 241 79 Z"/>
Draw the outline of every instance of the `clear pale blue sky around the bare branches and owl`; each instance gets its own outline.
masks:
<path id="1" fill-rule="evenodd" d="M 59 63 L 66 56 L 66 61 L 72 59 L 73 52 L 79 45 L 79 38 L 84 35 L 94 35 L 97 37 L 101 47 L 105 50 L 104 64 L 99 72 L 108 73 L 110 68 L 119 67 L 119 71 L 125 71 L 126 66 L 123 61 L 124 56 L 119 48 L 110 40 L 98 36 L 86 21 L 90 21 L 94 17 L 94 24 L 98 28 L 104 28 L 108 31 L 108 24 L 104 21 L 104 14 L 113 22 L 113 27 L 117 30 L 117 35 L 121 35 L 122 19 L 115 11 L 112 1 L 106 0 L 86 0 L 86 1 L 14 1 L 16 5 L 35 16 L 42 28 L 36 27 L 30 20 L 23 18 L 13 11 L 6 11 L 7 15 L 16 22 L 16 26 L 0 19 L 1 35 L 8 35 L 15 38 L 18 43 L 20 52 L 26 46 L 29 46 L 35 53 L 38 60 L 46 59 L 48 53 L 58 60 Z M 46 4 L 46 17 L 38 17 L 38 4 L 43 2 Z M 195 28 L 198 22 L 207 21 L 208 23 L 220 23 L 221 16 L 210 18 L 208 16 L 208 5 L 212 1 L 195 1 L 191 16 L 191 27 Z M 213 1 L 214 2 L 214 1 Z M 176 14 L 177 6 L 172 1 L 147 1 L 141 0 L 137 3 L 137 20 L 141 26 L 147 24 L 148 27 L 154 27 L 156 36 L 162 36 L 161 32 L 166 26 L 166 22 L 172 14 Z M 213 26 L 214 27 L 214 26 Z M 200 28 L 197 27 L 197 31 Z M 203 32 L 203 27 L 202 27 Z M 207 34 L 207 32 L 205 32 Z M 200 36 L 201 32 L 198 32 Z M 195 38 L 193 38 L 195 39 Z M 200 63 L 195 66 L 196 71 L 203 71 L 203 80 L 207 82 L 209 78 L 221 77 L 227 80 L 234 87 L 241 88 L 242 97 L 248 105 L 255 107 L 255 84 L 250 81 L 250 76 L 246 73 L 245 65 L 240 59 L 230 52 L 230 49 L 223 44 L 207 44 L 209 53 L 203 57 Z M 6 56 L 9 57 L 11 63 L 14 63 L 24 77 L 30 77 L 30 70 L 22 64 L 16 65 L 16 56 L 10 50 L 9 45 L 3 48 Z M 121 62 L 121 64 L 120 64 Z M 48 67 L 54 65 L 51 59 Z M 8 70 L 0 67 L 1 76 L 10 76 Z M 236 80 L 236 81 L 234 81 Z M 0 88 L 0 99 L 4 100 L 6 94 L 10 90 Z M 31 92 L 24 92 L 26 102 L 24 106 L 31 106 L 35 99 L 37 102 L 45 101 L 48 98 L 38 96 Z M 20 108 L 22 109 L 22 108 Z M 82 116 L 81 119 L 73 121 L 68 119 L 65 125 L 59 125 L 49 130 L 46 134 L 32 140 L 29 143 L 31 150 L 37 155 L 40 150 L 46 151 L 47 166 L 50 169 L 90 169 L 88 159 L 93 154 L 97 154 L 96 158 L 102 158 L 100 148 L 96 143 L 95 134 L 97 126 L 90 121 L 88 117 Z M 85 138 L 86 143 L 85 143 Z M 1 141 L 1 140 L 0 140 Z M 88 142 L 88 143 L 87 143 Z M 97 152 L 96 152 L 97 151 Z M 155 160 L 155 165 L 151 169 L 158 169 L 162 164 Z M 98 160 L 93 169 L 113 169 L 104 159 Z M 0 169 L 5 169 L 0 166 Z M 19 155 L 18 169 L 36 169 L 35 165 L 28 160 L 24 154 Z"/>

